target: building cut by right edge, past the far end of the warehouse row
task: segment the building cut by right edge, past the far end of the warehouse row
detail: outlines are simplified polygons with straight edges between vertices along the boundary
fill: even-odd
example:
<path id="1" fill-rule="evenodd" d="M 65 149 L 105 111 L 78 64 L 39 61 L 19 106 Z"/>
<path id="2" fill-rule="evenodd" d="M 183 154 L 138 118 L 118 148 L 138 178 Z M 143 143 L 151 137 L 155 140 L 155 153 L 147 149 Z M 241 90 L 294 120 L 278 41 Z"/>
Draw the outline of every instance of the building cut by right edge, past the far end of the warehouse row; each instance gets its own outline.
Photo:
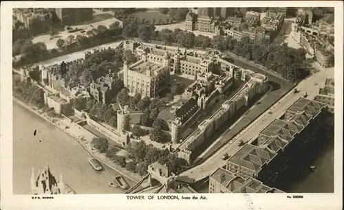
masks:
<path id="1" fill-rule="evenodd" d="M 328 105 L 330 112 L 334 113 L 334 79 L 326 78 L 325 85 L 320 88 L 314 100 Z"/>

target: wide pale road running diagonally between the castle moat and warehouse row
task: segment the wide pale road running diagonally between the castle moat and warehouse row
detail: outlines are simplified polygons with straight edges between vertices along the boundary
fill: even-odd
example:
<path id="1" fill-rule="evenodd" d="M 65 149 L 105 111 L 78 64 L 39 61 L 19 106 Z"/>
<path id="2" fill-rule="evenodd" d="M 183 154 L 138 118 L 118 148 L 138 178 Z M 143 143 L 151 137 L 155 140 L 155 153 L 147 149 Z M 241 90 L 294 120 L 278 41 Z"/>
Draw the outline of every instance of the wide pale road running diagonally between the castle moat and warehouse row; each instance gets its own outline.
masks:
<path id="1" fill-rule="evenodd" d="M 261 130 L 264 130 L 264 128 L 266 128 L 274 119 L 283 115 L 284 111 L 294 102 L 296 102 L 299 97 L 303 97 L 305 93 L 308 93 L 309 99 L 314 98 L 319 90 L 319 84 L 323 84 L 324 78 L 328 75 L 331 75 L 329 71 L 333 70 L 321 69 L 321 71 L 318 73 L 315 73 L 306 80 L 300 82 L 296 87 L 299 90 L 299 93 L 293 93 L 293 91 L 290 91 L 287 95 L 282 97 L 279 102 L 274 104 L 271 108 L 266 110 L 265 113 L 253 121 L 250 126 L 239 132 L 239 134 L 234 137 L 232 141 L 226 143 L 221 150 L 215 152 L 215 154 L 204 161 L 204 163 L 197 165 L 190 170 L 186 170 L 178 176 L 188 176 L 189 178 L 199 180 L 200 178 L 204 178 L 205 176 L 211 174 L 218 167 L 222 167 L 226 163 L 226 161 L 222 160 L 222 156 L 226 153 L 233 155 L 241 148 L 237 144 L 239 139 L 250 143 L 255 139 L 255 137 L 257 137 Z M 271 112 L 271 114 L 269 114 L 269 112 Z M 223 135 L 223 138 L 226 138 L 227 134 L 228 130 L 226 134 Z"/>

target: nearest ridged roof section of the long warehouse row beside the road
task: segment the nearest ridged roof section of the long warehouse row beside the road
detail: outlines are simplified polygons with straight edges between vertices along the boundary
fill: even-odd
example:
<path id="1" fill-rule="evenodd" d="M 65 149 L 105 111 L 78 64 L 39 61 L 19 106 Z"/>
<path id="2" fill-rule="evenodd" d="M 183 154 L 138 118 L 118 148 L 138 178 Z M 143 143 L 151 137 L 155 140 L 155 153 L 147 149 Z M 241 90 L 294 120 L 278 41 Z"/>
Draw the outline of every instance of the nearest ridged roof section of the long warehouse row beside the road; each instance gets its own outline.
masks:
<path id="1" fill-rule="evenodd" d="M 241 167 L 246 167 L 249 170 L 257 172 L 261 165 L 270 161 L 274 155 L 275 154 L 265 148 L 246 144 L 237 154 L 228 159 L 228 162 L 241 165 Z"/>

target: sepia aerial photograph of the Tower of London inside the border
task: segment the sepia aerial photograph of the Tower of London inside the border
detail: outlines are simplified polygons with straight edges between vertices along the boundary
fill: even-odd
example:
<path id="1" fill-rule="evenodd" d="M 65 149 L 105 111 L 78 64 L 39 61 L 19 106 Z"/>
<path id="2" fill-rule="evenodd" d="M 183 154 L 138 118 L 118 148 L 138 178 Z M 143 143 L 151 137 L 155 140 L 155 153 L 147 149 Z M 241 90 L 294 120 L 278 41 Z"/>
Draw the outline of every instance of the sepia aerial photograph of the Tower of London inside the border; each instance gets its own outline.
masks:
<path id="1" fill-rule="evenodd" d="M 13 194 L 334 193 L 334 8 L 14 8 Z"/>

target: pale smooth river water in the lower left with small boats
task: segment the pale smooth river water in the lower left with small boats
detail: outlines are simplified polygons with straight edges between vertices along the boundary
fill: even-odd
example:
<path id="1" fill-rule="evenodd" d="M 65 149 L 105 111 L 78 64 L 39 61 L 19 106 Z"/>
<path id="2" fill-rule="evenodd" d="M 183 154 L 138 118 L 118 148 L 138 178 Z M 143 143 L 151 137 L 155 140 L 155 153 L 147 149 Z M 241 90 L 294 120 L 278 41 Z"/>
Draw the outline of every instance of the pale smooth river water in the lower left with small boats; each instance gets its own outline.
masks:
<path id="1" fill-rule="evenodd" d="M 13 194 L 30 194 L 32 167 L 36 174 L 46 163 L 52 174 L 58 180 L 62 174 L 63 181 L 77 194 L 122 193 L 119 188 L 109 187 L 118 174 L 106 166 L 96 172 L 88 163 L 90 157 L 75 139 L 13 102 Z"/>

